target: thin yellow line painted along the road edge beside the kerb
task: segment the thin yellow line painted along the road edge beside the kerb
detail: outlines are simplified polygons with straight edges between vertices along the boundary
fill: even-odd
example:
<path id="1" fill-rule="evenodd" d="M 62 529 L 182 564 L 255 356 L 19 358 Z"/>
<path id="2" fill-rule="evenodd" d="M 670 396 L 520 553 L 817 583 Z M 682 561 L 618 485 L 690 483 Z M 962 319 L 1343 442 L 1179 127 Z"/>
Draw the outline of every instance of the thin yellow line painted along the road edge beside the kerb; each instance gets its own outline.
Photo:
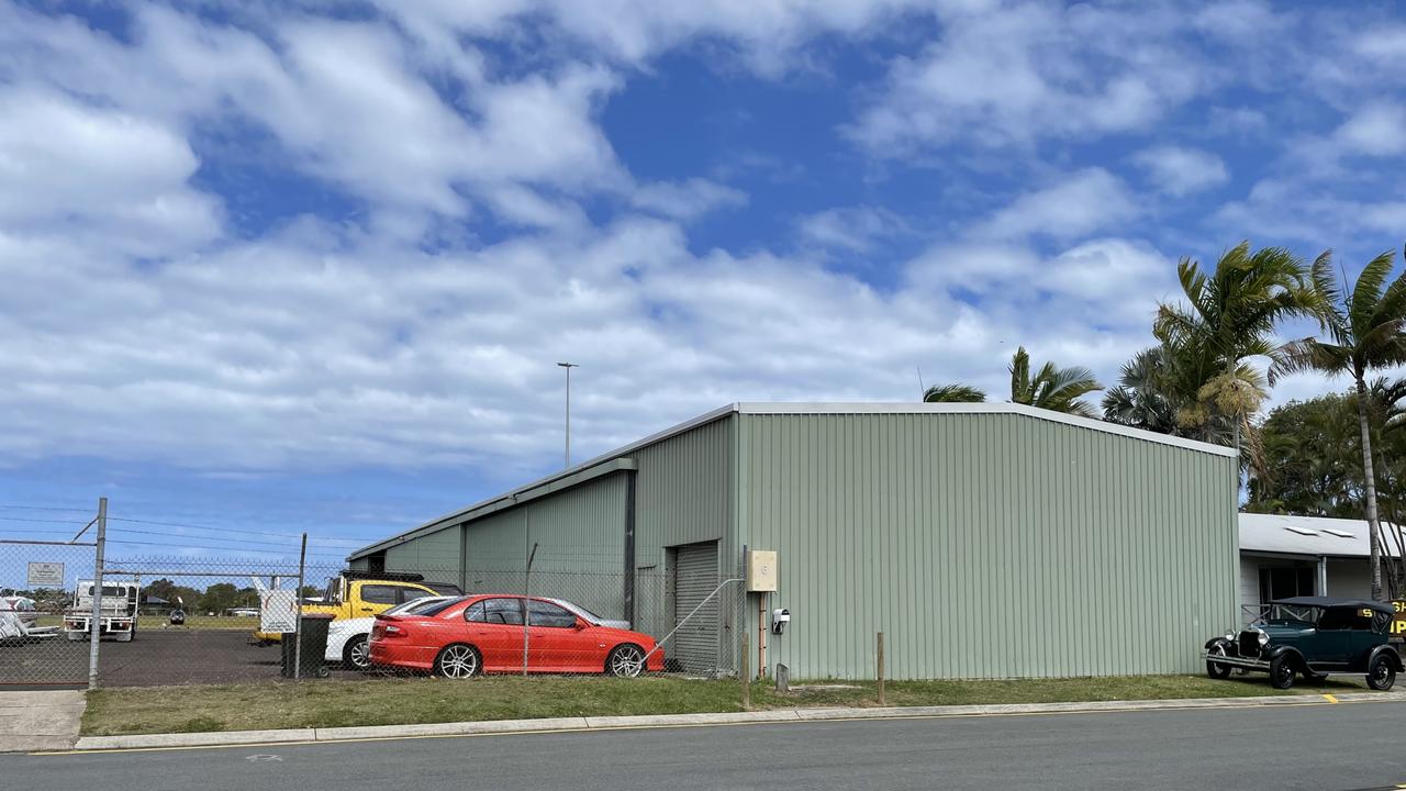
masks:
<path id="1" fill-rule="evenodd" d="M 1340 702 L 1340 701 L 1339 701 Z M 1341 705 L 1351 704 L 1389 704 L 1399 702 L 1396 700 L 1368 700 L 1368 701 L 1350 701 Z M 827 722 L 894 722 L 894 721 L 915 721 L 915 719 L 986 719 L 993 716 L 1073 716 L 1073 715 L 1097 715 L 1097 714 L 1136 714 L 1136 712 L 1160 712 L 1160 711 L 1263 711 L 1268 708 L 1303 708 L 1303 707 L 1320 707 L 1327 705 L 1327 701 L 1305 701 L 1295 704 L 1275 704 L 1272 707 L 1205 707 L 1205 705 L 1184 705 L 1184 707 L 1157 707 L 1157 708 L 1102 708 L 1090 711 L 1010 711 L 1010 712 L 993 712 L 993 714 L 921 714 L 921 715 L 900 715 L 900 716 L 837 716 L 830 719 L 763 719 L 756 722 L 686 722 L 676 725 L 613 725 L 609 728 L 553 728 L 547 730 L 495 730 L 491 733 L 422 733 L 413 736 L 352 736 L 346 739 L 321 739 L 308 742 L 253 742 L 247 745 L 190 745 L 180 747 L 105 747 L 100 750 L 55 750 L 44 753 L 27 753 L 34 757 L 51 757 L 51 756 L 93 756 L 100 753 L 167 753 L 167 752 L 184 752 L 184 750 L 239 750 L 250 747 L 308 747 L 316 745 L 353 745 L 357 742 L 406 742 L 419 739 L 479 739 L 485 736 L 536 736 L 536 735 L 560 735 L 560 733 L 609 733 L 619 730 L 673 730 L 681 728 L 731 728 L 737 725 L 824 725 Z M 1400 785 L 1406 788 L 1406 783 Z"/>

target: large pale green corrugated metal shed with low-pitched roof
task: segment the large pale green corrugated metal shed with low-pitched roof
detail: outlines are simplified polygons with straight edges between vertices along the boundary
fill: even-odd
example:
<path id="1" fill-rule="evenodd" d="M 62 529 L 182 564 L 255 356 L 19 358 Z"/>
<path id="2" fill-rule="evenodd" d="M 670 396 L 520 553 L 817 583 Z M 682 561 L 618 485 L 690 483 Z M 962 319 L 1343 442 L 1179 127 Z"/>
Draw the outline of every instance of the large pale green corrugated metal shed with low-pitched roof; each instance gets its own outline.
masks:
<path id="1" fill-rule="evenodd" d="M 659 638 L 696 611 L 693 673 L 744 631 L 797 678 L 872 677 L 876 632 L 891 678 L 1182 673 L 1236 622 L 1236 497 L 1232 449 L 1018 404 L 733 404 L 350 562 Z M 775 593 L 727 581 L 745 549 Z"/>

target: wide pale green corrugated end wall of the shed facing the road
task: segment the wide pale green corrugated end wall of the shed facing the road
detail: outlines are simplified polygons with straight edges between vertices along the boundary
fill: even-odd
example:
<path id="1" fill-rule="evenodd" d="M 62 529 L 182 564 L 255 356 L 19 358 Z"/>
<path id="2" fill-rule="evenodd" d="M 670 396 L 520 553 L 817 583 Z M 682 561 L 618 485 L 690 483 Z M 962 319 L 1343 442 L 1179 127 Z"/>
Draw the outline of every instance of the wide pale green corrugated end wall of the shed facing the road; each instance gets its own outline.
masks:
<path id="1" fill-rule="evenodd" d="M 879 631 L 891 678 L 1194 673 L 1236 622 L 1229 457 L 1015 414 L 741 421 L 793 677 L 872 677 Z"/>

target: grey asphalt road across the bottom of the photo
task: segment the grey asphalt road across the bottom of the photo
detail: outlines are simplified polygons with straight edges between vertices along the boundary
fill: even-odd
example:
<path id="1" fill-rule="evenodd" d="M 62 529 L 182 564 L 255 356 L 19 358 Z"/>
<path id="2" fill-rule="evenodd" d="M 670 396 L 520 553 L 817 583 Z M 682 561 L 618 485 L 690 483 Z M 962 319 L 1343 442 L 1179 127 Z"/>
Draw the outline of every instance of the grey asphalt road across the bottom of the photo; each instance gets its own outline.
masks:
<path id="1" fill-rule="evenodd" d="M 1406 783 L 1406 704 L 766 723 L 0 756 L 6 788 L 1233 788 Z"/>

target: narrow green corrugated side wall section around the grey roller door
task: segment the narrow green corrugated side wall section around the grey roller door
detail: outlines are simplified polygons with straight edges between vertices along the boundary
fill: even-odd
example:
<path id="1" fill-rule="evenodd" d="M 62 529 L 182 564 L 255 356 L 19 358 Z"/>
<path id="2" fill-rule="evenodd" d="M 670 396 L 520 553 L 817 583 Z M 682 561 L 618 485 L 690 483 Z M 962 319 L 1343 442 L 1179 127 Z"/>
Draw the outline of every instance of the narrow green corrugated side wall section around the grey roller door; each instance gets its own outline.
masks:
<path id="1" fill-rule="evenodd" d="M 636 625 L 662 638 L 673 628 L 665 549 L 718 542 L 720 578 L 735 576 L 737 417 L 717 421 L 631 453 L 636 483 Z M 734 586 L 735 587 L 735 586 Z M 720 602 L 723 640 L 735 640 L 735 593 Z M 669 646 L 665 646 L 668 652 Z"/>

